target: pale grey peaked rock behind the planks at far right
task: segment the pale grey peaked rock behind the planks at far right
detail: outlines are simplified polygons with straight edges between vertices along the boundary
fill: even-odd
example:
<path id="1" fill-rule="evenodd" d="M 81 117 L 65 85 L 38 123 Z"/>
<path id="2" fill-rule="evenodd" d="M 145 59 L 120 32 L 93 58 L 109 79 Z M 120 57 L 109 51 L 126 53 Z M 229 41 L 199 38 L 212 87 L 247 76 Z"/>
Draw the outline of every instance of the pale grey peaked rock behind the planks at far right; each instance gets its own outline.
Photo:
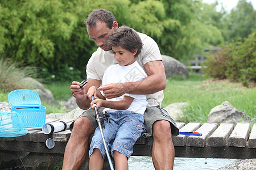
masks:
<path id="1" fill-rule="evenodd" d="M 208 123 L 237 124 L 240 120 L 249 121 L 249 116 L 242 111 L 233 107 L 228 101 L 224 101 L 221 105 L 217 105 L 210 110 L 208 115 Z"/>

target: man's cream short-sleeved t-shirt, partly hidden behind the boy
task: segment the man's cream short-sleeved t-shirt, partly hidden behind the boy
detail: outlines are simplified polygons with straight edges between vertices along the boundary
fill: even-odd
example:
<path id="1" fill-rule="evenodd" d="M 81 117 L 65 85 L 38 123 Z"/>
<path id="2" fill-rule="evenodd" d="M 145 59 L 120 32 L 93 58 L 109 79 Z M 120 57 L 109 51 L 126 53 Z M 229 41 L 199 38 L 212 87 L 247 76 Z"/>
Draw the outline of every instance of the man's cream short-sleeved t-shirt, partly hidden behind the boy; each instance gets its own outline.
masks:
<path id="1" fill-rule="evenodd" d="M 150 61 L 162 61 L 162 57 L 158 45 L 151 37 L 139 32 L 138 34 L 139 37 L 141 37 L 143 46 L 141 53 L 135 57 L 135 59 L 138 61 L 142 69 L 145 70 L 144 64 Z M 98 48 L 96 52 L 92 54 L 92 57 L 90 57 L 86 65 L 87 79 L 102 80 L 105 70 L 110 65 L 117 63 L 118 62 L 115 60 L 112 50 L 105 52 L 101 48 Z M 147 95 L 148 107 L 161 106 L 163 97 L 163 91 Z"/>

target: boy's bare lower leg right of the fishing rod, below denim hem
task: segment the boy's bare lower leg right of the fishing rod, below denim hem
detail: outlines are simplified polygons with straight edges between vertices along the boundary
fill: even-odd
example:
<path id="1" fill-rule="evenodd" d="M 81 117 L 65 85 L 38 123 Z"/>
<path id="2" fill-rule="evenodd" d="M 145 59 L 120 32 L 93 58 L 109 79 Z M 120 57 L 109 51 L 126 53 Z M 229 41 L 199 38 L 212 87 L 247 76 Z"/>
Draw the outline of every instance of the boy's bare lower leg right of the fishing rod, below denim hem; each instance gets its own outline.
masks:
<path id="1" fill-rule="evenodd" d="M 128 161 L 127 157 L 121 154 L 118 151 L 113 151 L 113 157 L 115 160 L 115 169 L 127 169 L 128 170 Z"/>

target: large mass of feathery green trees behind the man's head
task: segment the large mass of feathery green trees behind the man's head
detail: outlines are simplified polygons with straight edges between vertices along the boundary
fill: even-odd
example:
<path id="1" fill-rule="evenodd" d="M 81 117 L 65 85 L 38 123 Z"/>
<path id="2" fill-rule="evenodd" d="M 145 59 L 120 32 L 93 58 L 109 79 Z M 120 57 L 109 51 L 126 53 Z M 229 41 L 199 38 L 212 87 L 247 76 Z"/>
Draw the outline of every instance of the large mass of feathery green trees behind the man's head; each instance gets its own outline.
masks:
<path id="1" fill-rule="evenodd" d="M 38 67 L 43 79 L 84 78 L 86 63 L 97 48 L 84 22 L 91 11 L 106 8 L 119 25 L 155 39 L 163 54 L 188 59 L 205 44 L 222 42 L 216 26 L 199 22 L 201 5 L 192 0 L 1 1 L 0 54 Z"/>

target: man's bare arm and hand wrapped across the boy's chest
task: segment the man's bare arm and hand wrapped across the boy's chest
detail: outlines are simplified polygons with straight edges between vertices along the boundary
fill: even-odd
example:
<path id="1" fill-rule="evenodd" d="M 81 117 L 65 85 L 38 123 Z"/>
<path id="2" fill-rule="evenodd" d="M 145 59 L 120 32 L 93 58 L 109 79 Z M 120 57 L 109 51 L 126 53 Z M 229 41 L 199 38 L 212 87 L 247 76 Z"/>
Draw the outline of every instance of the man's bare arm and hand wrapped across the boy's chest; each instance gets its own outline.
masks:
<path id="1" fill-rule="evenodd" d="M 139 82 L 112 83 L 101 86 L 106 98 L 118 97 L 123 94 L 148 95 L 166 88 L 166 74 L 162 61 L 150 61 L 144 65 L 148 75 Z"/>

